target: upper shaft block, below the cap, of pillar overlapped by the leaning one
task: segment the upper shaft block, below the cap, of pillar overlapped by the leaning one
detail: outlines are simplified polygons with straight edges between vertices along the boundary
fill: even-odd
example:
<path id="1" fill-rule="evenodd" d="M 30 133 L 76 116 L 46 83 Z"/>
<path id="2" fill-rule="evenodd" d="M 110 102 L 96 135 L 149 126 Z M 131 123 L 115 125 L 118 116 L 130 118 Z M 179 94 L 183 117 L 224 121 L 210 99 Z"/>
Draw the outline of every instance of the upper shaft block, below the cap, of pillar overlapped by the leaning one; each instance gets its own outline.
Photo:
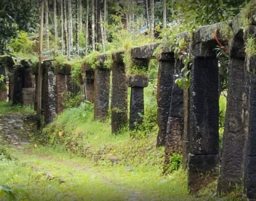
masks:
<path id="1" fill-rule="evenodd" d="M 157 77 L 157 105 L 158 107 L 170 107 L 174 61 L 159 61 Z"/>

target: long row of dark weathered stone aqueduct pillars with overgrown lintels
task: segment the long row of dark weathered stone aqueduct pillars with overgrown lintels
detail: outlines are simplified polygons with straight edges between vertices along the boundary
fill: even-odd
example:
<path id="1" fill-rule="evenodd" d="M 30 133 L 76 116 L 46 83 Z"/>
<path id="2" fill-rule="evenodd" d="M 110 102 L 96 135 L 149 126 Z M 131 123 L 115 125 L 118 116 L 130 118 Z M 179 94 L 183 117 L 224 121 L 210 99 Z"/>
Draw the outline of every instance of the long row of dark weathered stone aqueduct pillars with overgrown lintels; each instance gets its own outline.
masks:
<path id="1" fill-rule="evenodd" d="M 159 133 L 157 146 L 165 146 L 165 163 L 173 152 L 183 154 L 188 167 L 188 187 L 192 192 L 200 188 L 209 172 L 214 172 L 221 163 L 218 191 L 230 190 L 236 184 L 244 185 L 248 198 L 256 199 L 256 57 L 245 54 L 248 35 L 256 33 L 256 23 L 248 29 L 241 29 L 239 17 L 232 22 L 233 39 L 229 45 L 229 83 L 227 111 L 223 137 L 223 151 L 219 153 L 219 80 L 218 60 L 214 48 L 217 42 L 214 31 L 221 23 L 199 27 L 189 43 L 192 54 L 191 83 L 189 90 L 182 90 L 174 84 L 173 75 L 182 68 L 181 61 L 174 56 L 172 48 L 165 48 L 157 56 L 159 61 L 157 84 L 157 123 Z M 186 33 L 180 37 L 186 39 Z M 148 67 L 149 60 L 159 43 L 135 47 L 131 51 L 133 64 Z M 86 99 L 94 102 L 95 120 L 108 116 L 110 71 L 112 71 L 111 118 L 112 132 L 128 121 L 127 89 L 131 87 L 129 126 L 136 129 L 144 114 L 143 88 L 148 86 L 147 77 L 125 74 L 123 53 L 112 55 L 111 69 L 103 67 L 107 56 L 98 56 L 95 70 L 83 66 L 80 84 L 84 86 Z M 33 102 L 31 91 L 35 91 L 37 74 L 24 61 L 20 67 L 13 67 L 10 57 L 2 57 L 0 73 L 8 75 L 4 83 L 7 90 L 0 92 L 1 99 L 15 103 Z M 44 61 L 43 100 L 45 123 L 54 120 L 64 106 L 68 91 L 78 89 L 71 84 L 70 68 L 54 68 L 53 61 Z M 24 78 L 26 77 L 26 79 Z M 3 83 L 1 84 L 3 86 Z M 30 94 L 30 95 L 27 95 Z M 30 100 L 27 100 L 31 97 Z M 135 123 L 136 122 L 136 123 Z"/>

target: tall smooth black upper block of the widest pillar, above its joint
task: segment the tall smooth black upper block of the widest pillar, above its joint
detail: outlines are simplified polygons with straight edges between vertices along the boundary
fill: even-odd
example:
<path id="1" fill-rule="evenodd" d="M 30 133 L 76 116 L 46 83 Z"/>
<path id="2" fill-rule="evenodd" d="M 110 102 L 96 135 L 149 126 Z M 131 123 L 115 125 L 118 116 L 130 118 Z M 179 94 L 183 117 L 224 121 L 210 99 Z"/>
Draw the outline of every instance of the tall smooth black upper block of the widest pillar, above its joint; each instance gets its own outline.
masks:
<path id="1" fill-rule="evenodd" d="M 189 101 L 189 142 L 192 154 L 219 152 L 218 61 L 193 60 Z"/>

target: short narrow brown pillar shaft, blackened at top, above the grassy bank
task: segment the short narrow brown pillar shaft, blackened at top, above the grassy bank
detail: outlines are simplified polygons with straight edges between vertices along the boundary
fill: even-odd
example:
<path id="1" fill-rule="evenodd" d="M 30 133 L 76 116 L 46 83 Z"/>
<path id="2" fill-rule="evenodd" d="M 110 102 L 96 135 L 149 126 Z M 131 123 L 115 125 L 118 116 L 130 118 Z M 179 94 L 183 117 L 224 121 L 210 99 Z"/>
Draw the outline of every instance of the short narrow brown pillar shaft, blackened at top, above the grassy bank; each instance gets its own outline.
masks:
<path id="1" fill-rule="evenodd" d="M 94 102 L 94 71 L 85 72 L 85 98 L 87 101 Z"/>

